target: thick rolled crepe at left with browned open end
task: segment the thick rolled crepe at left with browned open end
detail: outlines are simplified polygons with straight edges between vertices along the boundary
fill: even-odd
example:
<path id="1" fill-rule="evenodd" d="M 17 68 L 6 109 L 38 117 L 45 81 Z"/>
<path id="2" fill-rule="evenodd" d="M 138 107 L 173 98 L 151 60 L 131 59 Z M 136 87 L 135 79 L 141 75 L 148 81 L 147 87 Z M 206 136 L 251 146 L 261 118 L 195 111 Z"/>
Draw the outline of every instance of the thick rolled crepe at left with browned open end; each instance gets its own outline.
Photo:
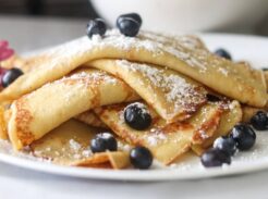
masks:
<path id="1" fill-rule="evenodd" d="M 15 100 L 10 108 L 8 134 L 13 147 L 22 149 L 92 108 L 135 99 L 139 97 L 122 80 L 82 69 Z"/>

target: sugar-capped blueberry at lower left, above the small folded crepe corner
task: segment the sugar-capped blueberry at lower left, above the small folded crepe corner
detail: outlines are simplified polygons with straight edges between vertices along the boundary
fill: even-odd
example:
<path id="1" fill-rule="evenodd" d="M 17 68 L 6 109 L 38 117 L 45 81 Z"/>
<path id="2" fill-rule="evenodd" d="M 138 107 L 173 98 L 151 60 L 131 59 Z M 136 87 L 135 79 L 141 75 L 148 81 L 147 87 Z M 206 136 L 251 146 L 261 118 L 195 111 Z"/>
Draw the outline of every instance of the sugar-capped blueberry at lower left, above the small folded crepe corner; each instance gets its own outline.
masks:
<path id="1" fill-rule="evenodd" d="M 90 149 L 93 152 L 117 151 L 118 142 L 110 133 L 101 133 L 92 139 Z"/>

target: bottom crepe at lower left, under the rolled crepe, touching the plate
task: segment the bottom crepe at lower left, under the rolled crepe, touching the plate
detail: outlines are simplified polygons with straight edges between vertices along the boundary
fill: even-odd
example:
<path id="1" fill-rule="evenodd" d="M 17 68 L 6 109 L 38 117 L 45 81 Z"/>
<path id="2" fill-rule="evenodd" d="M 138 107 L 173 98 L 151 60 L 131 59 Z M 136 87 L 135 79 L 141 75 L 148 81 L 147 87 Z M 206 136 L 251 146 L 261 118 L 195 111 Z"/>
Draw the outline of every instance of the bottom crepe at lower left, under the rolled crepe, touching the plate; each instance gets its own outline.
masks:
<path id="1" fill-rule="evenodd" d="M 101 129 L 70 120 L 51 130 L 29 148 L 35 157 L 60 165 L 123 169 L 130 165 L 129 151 L 93 153 L 90 140 Z"/>

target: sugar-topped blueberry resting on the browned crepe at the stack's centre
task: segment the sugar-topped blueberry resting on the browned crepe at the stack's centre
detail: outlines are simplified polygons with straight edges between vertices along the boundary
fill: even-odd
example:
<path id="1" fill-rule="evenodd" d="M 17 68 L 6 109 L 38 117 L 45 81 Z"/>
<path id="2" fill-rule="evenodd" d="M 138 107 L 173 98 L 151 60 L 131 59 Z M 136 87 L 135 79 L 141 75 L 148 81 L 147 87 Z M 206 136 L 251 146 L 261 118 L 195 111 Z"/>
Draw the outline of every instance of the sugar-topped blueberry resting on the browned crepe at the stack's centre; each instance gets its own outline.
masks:
<path id="1" fill-rule="evenodd" d="M 143 130 L 150 126 L 151 117 L 143 103 L 132 103 L 124 110 L 125 123 L 134 129 Z"/>

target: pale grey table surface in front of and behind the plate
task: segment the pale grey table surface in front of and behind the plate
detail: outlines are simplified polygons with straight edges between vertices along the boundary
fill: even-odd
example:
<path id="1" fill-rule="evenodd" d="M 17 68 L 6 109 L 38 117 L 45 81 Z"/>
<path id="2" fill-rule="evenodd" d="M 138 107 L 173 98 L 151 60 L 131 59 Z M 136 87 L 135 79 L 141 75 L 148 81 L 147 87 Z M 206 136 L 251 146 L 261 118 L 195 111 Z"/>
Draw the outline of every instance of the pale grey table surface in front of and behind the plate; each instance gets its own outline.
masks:
<path id="1" fill-rule="evenodd" d="M 85 34 L 86 21 L 0 16 L 0 38 L 19 52 L 49 47 Z M 0 198 L 267 198 L 268 171 L 231 177 L 160 183 L 80 179 L 0 163 Z"/>

